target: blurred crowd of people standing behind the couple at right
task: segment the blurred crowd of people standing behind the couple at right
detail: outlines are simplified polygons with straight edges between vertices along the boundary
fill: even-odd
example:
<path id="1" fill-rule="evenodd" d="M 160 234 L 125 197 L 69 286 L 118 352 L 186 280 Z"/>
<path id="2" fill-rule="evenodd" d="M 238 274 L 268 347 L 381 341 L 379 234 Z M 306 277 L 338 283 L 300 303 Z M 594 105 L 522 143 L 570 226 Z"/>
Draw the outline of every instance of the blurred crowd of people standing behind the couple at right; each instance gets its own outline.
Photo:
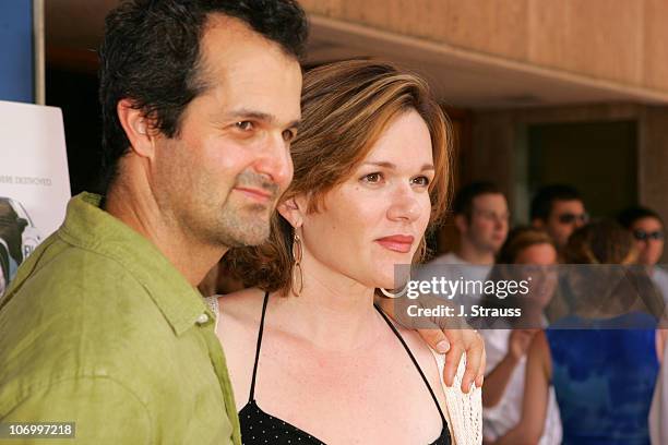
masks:
<path id="1" fill-rule="evenodd" d="M 497 320 L 480 330 L 486 443 L 665 443 L 660 216 L 635 206 L 616 219 L 589 220 L 582 195 L 565 184 L 540 189 L 530 226 L 510 231 L 506 199 L 492 183 L 463 187 L 453 204 L 458 245 L 432 264 L 470 279 L 508 277 L 508 265 L 551 270 L 523 305 L 529 311 L 522 321 Z M 474 299 L 484 306 L 522 303 Z"/>

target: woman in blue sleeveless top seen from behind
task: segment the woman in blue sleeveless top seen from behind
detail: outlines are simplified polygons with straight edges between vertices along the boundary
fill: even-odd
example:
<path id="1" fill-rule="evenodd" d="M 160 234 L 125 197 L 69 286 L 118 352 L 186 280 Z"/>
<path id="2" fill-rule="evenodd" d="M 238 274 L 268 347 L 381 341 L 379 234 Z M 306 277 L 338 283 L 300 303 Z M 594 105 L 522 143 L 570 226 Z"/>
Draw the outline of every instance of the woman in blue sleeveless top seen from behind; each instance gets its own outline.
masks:
<path id="1" fill-rule="evenodd" d="M 648 444 L 647 416 L 658 371 L 649 279 L 629 268 L 631 234 L 612 221 L 577 229 L 565 260 L 571 313 L 536 334 L 529 347 L 522 420 L 497 444 L 535 443 L 545 424 L 551 381 L 564 444 Z M 585 266 L 586 265 L 586 266 Z M 611 266 L 612 265 L 612 266 Z M 639 296 L 645 300 L 643 304 Z"/>

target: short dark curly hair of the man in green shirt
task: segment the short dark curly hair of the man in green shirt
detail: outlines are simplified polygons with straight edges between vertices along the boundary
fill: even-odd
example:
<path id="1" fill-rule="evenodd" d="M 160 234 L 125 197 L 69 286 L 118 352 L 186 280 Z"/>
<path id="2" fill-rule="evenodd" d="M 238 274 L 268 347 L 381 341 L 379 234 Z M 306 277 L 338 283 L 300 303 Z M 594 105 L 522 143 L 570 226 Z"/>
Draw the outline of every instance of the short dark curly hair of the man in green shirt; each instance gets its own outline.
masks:
<path id="1" fill-rule="evenodd" d="M 206 89 L 200 43 L 211 14 L 239 19 L 288 56 L 299 60 L 303 55 L 308 24 L 294 0 L 123 2 L 107 15 L 99 52 L 103 190 L 130 147 L 117 115 L 119 100 L 130 99 L 157 130 L 174 137 L 188 104 Z"/>

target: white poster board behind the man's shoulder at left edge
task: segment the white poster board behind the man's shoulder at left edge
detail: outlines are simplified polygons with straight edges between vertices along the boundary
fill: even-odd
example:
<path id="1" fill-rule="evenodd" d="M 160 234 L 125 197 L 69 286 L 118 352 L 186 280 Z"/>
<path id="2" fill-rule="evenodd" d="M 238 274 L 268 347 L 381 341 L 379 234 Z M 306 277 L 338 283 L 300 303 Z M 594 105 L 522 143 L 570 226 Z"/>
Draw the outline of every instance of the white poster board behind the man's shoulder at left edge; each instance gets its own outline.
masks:
<path id="1" fill-rule="evenodd" d="M 70 196 L 60 108 L 0 100 L 0 294 L 61 225 Z"/>

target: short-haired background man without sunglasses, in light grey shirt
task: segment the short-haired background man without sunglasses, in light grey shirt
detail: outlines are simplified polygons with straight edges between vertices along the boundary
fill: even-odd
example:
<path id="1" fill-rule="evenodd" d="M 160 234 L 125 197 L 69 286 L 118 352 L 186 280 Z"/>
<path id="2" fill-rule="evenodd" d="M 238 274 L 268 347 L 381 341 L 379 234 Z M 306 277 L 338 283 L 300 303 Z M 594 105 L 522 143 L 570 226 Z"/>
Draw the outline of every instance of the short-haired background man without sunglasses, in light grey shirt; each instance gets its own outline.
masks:
<path id="1" fill-rule="evenodd" d="M 449 265 L 443 270 L 449 279 L 484 280 L 508 236 L 510 215 L 505 196 L 490 182 L 474 182 L 460 190 L 453 213 L 458 246 L 431 264 Z M 480 299 L 478 293 L 465 297 L 472 304 Z"/>

